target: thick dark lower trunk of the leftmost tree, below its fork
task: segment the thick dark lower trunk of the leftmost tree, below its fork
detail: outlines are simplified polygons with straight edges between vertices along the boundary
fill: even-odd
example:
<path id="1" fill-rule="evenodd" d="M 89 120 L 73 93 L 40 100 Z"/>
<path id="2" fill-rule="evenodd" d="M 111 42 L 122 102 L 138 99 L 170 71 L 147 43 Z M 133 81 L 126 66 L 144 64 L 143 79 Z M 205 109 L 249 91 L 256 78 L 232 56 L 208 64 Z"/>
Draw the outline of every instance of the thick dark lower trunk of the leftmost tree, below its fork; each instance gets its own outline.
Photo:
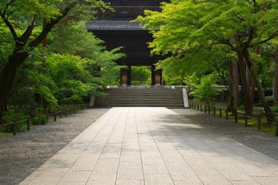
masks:
<path id="1" fill-rule="evenodd" d="M 28 52 L 22 51 L 22 47 L 15 47 L 13 54 L 8 58 L 8 63 L 3 67 L 0 76 L 0 118 L 8 105 L 8 97 L 13 88 L 13 82 L 17 74 L 17 68 L 28 57 Z"/>

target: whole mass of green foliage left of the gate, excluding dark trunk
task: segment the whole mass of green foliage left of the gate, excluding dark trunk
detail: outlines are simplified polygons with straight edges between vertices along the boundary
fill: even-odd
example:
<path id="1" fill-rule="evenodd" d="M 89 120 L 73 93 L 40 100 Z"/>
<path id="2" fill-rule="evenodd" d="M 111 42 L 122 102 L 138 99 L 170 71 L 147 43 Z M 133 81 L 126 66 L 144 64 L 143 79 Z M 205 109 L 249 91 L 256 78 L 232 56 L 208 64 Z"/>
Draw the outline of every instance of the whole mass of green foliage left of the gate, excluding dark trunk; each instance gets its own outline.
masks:
<path id="1" fill-rule="evenodd" d="M 59 19 L 65 7 L 71 7 L 70 12 L 47 35 L 47 48 L 29 47 L 41 34 L 43 22 L 51 24 Z M 27 51 L 29 56 L 17 69 L 8 101 L 15 110 L 9 109 L 5 115 L 16 111 L 35 117 L 88 101 L 92 92 L 98 94 L 95 89 L 101 85 L 119 83 L 120 67 L 115 61 L 124 56 L 121 48 L 107 51 L 104 42 L 85 27 L 89 19 L 95 18 L 96 8 L 109 7 L 99 0 L 1 1 L 0 74 L 13 54 L 16 38 L 23 36 L 33 22 L 31 36 L 20 51 Z M 16 117 L 11 114 L 9 118 Z M 3 122 L 8 122 L 8 117 Z"/>

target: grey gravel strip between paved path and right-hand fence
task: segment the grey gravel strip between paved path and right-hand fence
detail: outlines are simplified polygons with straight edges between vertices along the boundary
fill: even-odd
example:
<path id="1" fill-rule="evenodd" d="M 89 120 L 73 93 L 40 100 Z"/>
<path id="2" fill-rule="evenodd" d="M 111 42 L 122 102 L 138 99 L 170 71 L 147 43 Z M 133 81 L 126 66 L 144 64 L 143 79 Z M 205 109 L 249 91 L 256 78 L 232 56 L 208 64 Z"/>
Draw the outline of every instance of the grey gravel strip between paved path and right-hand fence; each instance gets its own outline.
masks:
<path id="1" fill-rule="evenodd" d="M 278 160 L 278 137 L 273 134 L 257 131 L 251 127 L 246 128 L 244 124 L 236 124 L 224 118 L 217 118 L 200 111 L 190 109 L 171 110 L 179 113 L 181 116 L 186 116 L 191 122 L 201 125 L 204 129 L 210 129 L 214 134 L 227 136 Z"/>

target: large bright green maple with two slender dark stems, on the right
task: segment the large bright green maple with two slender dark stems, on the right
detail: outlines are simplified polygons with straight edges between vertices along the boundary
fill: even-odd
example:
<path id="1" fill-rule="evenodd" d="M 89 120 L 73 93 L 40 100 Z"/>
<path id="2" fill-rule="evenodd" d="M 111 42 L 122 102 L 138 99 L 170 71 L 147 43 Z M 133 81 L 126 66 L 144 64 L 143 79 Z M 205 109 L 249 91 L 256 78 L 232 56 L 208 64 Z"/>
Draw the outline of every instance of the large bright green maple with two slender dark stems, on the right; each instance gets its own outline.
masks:
<path id="1" fill-rule="evenodd" d="M 193 54 L 198 46 L 205 46 L 206 52 L 218 46 L 228 49 L 228 53 L 236 56 L 238 63 L 245 111 L 252 113 L 250 84 L 245 74 L 246 64 L 256 81 L 268 120 L 271 121 L 274 120 L 274 115 L 265 101 L 263 87 L 250 52 L 256 46 L 277 37 L 277 4 L 277 1 L 172 0 L 171 3 L 163 3 L 162 13 L 145 11 L 145 17 L 138 17 L 137 21 L 144 23 L 145 28 L 154 34 L 154 41 L 149 46 L 156 54 L 171 54 L 183 58 L 188 53 Z M 261 6 L 265 6 L 265 11 L 261 11 Z M 263 26 L 258 29 L 261 22 Z M 218 54 L 219 52 L 211 52 L 206 61 L 209 63 Z M 195 56 L 196 60 L 198 57 L 199 55 Z"/>

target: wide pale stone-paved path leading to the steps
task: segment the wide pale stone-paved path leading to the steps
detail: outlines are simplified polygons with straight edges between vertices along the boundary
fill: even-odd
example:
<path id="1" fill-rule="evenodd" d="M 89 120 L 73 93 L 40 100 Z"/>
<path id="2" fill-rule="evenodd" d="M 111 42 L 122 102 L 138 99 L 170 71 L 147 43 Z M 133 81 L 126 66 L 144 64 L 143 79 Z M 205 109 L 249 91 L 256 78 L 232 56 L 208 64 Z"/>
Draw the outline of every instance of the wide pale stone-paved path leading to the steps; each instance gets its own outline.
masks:
<path id="1" fill-rule="evenodd" d="M 167 108 L 111 108 L 22 184 L 272 185 L 278 161 Z"/>

